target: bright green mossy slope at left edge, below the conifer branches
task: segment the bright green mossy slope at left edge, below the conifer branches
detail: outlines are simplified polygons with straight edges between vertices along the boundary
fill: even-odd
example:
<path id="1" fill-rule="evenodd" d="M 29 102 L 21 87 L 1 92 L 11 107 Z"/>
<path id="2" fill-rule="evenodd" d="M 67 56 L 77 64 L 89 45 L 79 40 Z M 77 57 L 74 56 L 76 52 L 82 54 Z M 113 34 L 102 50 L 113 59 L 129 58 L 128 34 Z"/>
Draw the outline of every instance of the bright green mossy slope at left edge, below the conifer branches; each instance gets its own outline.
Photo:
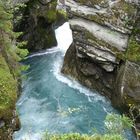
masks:
<path id="1" fill-rule="evenodd" d="M 17 99 L 17 81 L 0 54 L 0 118 L 8 118 Z"/>

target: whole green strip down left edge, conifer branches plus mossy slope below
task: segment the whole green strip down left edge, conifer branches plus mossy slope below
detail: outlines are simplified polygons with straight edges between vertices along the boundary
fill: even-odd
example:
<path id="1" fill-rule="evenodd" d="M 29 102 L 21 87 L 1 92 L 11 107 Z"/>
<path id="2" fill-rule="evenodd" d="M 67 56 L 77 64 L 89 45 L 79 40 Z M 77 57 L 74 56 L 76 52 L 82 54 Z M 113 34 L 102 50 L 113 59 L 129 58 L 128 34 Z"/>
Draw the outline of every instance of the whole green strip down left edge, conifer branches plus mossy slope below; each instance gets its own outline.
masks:
<path id="1" fill-rule="evenodd" d="M 24 42 L 16 42 L 21 33 L 13 32 L 13 11 L 10 0 L 0 1 L 0 118 L 9 119 L 15 108 L 20 67 L 17 61 L 28 51 Z"/>

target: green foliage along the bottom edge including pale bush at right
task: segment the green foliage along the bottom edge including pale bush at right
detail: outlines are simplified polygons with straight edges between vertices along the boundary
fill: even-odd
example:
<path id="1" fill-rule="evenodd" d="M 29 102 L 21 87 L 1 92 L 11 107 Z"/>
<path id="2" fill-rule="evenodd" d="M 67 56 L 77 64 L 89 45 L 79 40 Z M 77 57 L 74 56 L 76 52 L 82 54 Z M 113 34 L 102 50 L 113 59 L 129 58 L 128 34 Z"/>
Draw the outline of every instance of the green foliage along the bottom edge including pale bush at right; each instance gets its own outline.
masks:
<path id="1" fill-rule="evenodd" d="M 105 120 L 106 134 L 95 133 L 91 136 L 70 134 L 48 134 L 45 133 L 43 140 L 125 140 L 124 130 L 133 126 L 132 121 L 126 116 L 108 114 Z"/>

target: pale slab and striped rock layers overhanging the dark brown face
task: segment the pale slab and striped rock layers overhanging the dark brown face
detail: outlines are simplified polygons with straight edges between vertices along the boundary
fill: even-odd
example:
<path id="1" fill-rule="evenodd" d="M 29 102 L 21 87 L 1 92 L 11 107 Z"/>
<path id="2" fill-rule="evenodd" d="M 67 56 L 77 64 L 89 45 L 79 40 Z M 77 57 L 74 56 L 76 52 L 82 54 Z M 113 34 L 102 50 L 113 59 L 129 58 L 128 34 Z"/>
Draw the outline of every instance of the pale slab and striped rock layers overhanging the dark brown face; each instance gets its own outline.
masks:
<path id="1" fill-rule="evenodd" d="M 118 53 L 126 51 L 128 36 L 81 18 L 69 22 L 77 56 L 88 57 L 107 72 L 113 71 L 119 64 Z"/>

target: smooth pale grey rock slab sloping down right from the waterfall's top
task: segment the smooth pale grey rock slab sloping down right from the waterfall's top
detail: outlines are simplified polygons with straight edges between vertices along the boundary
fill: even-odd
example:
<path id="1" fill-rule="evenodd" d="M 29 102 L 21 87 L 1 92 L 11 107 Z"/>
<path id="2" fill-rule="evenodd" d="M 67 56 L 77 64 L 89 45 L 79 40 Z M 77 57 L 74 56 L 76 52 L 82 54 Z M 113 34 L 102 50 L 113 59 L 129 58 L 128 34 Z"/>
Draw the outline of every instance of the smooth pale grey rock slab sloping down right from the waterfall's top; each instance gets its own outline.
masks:
<path id="1" fill-rule="evenodd" d="M 127 48 L 128 36 L 119 32 L 113 31 L 109 28 L 103 27 L 94 22 L 84 20 L 81 18 L 69 20 L 71 26 L 80 26 L 88 30 L 93 36 L 99 40 L 109 43 L 111 46 L 120 51 L 125 51 Z"/>

